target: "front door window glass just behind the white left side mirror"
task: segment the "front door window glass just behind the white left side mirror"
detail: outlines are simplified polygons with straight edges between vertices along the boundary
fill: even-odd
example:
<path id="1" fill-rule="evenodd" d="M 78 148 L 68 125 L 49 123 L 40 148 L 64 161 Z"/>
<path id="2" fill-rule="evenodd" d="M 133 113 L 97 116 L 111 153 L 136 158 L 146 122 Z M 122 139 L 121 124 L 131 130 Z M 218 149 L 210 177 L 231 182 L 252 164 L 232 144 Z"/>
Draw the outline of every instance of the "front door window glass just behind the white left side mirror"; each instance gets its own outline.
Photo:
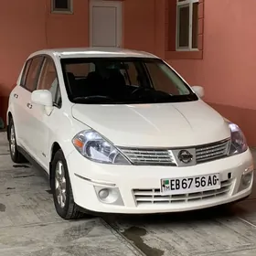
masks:
<path id="1" fill-rule="evenodd" d="M 37 89 L 50 91 L 52 94 L 53 103 L 58 106 L 61 104 L 59 79 L 54 61 L 50 58 L 46 58 L 44 61 L 38 80 Z"/>

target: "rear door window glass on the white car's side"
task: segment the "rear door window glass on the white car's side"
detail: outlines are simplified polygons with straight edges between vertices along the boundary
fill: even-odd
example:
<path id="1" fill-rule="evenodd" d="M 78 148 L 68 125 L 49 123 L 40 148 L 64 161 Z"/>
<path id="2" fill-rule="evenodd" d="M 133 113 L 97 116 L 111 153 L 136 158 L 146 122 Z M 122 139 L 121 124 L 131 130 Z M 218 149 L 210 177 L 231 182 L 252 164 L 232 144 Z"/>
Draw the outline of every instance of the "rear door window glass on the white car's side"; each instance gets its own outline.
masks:
<path id="1" fill-rule="evenodd" d="M 37 86 L 37 79 L 39 75 L 39 71 L 42 66 L 43 57 L 35 57 L 31 59 L 31 63 L 29 65 L 28 70 L 25 69 L 25 73 L 27 71 L 26 79 L 24 80 L 23 87 L 27 89 L 27 91 L 34 91 Z M 29 60 L 28 60 L 29 61 Z"/>

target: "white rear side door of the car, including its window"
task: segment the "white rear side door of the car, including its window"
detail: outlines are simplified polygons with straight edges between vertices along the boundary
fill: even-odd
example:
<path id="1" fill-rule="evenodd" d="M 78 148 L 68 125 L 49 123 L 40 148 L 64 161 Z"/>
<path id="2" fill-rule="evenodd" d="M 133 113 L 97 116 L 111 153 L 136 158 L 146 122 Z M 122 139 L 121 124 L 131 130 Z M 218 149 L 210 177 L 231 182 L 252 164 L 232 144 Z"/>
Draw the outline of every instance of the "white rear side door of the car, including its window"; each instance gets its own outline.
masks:
<path id="1" fill-rule="evenodd" d="M 27 70 L 27 77 L 22 82 L 20 90 L 20 105 L 18 111 L 19 126 L 20 126 L 20 139 L 23 147 L 31 156 L 35 155 L 34 152 L 34 137 L 31 133 L 31 115 L 33 112 L 33 104 L 31 102 L 31 93 L 36 89 L 39 72 L 42 66 L 44 57 L 37 56 L 31 59 L 29 69 Z"/>

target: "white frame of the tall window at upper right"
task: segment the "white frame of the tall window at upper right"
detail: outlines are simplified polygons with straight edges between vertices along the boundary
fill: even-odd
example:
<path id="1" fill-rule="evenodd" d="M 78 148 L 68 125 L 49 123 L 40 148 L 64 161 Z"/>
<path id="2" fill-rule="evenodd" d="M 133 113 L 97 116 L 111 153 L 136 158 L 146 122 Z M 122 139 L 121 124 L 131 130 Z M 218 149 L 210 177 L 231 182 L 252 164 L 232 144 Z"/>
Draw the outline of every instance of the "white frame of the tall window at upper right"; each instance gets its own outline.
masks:
<path id="1" fill-rule="evenodd" d="M 199 3 L 199 0 L 185 0 L 179 2 L 176 0 L 176 51 L 197 51 L 198 48 L 192 48 L 192 28 L 193 28 L 193 4 Z M 178 47 L 179 43 L 179 9 L 189 6 L 189 30 L 188 30 L 188 48 Z"/>

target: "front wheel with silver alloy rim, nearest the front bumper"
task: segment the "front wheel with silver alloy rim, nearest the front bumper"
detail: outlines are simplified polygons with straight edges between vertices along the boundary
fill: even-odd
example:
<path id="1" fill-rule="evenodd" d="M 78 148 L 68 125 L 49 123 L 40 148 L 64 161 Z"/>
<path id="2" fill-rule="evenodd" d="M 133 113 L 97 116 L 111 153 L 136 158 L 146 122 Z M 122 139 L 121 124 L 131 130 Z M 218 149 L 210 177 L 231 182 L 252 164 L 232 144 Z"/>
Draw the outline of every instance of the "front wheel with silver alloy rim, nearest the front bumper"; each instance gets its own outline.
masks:
<path id="1" fill-rule="evenodd" d="M 69 179 L 68 165 L 62 150 L 54 155 L 51 165 L 50 186 L 54 205 L 62 219 L 80 219 L 85 216 L 74 202 L 72 187 Z M 66 199 L 65 199 L 66 197 Z"/>

